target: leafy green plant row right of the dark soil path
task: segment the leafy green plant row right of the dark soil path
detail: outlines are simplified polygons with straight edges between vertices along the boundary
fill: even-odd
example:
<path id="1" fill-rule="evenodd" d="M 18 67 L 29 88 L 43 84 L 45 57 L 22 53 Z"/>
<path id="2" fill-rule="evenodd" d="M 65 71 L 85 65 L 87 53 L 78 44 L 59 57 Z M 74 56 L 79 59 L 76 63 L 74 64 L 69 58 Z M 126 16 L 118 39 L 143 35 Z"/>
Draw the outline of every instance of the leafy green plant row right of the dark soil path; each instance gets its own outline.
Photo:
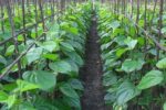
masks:
<path id="1" fill-rule="evenodd" d="M 125 15 L 107 11 L 106 8 L 98 11 L 106 103 L 114 110 L 132 106 L 149 110 L 153 103 L 165 107 L 165 52 L 160 51 L 156 61 L 157 47 L 152 38 L 141 29 L 137 32 L 135 23 Z"/>

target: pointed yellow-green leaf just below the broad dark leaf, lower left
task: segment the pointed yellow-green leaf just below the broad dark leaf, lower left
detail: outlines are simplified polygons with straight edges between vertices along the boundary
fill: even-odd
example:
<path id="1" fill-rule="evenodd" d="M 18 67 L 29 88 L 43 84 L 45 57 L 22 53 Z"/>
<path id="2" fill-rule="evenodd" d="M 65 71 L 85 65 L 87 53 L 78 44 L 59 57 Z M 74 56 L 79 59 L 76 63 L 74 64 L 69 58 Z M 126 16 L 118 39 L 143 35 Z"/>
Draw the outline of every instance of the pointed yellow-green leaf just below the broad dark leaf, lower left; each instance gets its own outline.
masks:
<path id="1" fill-rule="evenodd" d="M 31 84 L 31 82 L 28 82 L 28 81 L 24 81 L 24 80 L 21 80 L 21 79 L 17 80 L 17 85 L 18 85 L 18 88 L 21 92 L 39 88 L 38 85 L 34 85 L 34 84 Z"/>

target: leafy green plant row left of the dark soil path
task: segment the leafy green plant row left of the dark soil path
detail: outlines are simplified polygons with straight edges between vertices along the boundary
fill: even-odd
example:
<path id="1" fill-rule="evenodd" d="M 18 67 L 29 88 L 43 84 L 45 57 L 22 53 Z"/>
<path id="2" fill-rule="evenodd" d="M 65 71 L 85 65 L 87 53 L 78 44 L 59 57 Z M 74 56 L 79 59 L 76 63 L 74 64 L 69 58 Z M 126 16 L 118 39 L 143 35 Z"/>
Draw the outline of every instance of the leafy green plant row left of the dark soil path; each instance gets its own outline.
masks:
<path id="1" fill-rule="evenodd" d="M 32 4 L 29 10 L 31 14 L 25 15 L 27 26 L 34 23 L 33 10 Z M 48 13 L 51 14 L 51 9 L 44 14 Z M 39 23 L 37 32 L 32 28 L 24 33 L 25 41 L 23 35 L 18 36 L 19 55 L 31 48 L 20 61 L 21 74 L 18 75 L 19 67 L 15 64 L 11 73 L 2 78 L 1 110 L 81 110 L 80 96 L 84 88 L 79 80 L 79 68 L 84 64 L 90 18 L 91 4 L 79 4 L 76 9 L 71 6 L 59 20 L 45 21 L 46 32 Z M 19 19 L 14 16 L 15 30 L 22 25 Z M 4 24 L 10 29 L 8 19 Z M 10 36 L 4 34 L 0 41 Z M 7 43 L 6 47 L 6 51 L 0 47 L 0 52 L 4 52 L 0 55 L 0 73 L 18 57 L 12 42 Z"/>

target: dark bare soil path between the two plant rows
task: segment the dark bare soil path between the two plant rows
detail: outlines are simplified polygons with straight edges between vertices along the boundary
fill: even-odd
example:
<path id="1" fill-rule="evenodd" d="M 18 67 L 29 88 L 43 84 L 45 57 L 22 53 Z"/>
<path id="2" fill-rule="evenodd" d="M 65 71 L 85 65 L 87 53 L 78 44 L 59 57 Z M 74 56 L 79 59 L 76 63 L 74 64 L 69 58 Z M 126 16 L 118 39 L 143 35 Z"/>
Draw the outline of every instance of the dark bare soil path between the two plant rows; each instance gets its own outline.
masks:
<path id="1" fill-rule="evenodd" d="M 105 110 L 104 92 L 102 87 L 102 61 L 100 51 L 100 36 L 97 35 L 97 19 L 92 14 L 91 28 L 87 34 L 85 64 L 80 75 L 84 85 L 81 99 L 82 110 Z"/>

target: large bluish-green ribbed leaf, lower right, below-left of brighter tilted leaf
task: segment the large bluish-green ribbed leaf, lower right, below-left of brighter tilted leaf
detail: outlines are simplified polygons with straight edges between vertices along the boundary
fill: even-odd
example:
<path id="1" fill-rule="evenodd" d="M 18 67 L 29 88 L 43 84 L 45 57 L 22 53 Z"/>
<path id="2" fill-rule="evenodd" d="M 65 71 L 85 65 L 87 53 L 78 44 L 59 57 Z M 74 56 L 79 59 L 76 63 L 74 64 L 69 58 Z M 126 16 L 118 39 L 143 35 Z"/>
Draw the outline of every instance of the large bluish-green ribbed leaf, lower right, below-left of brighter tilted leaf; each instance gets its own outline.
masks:
<path id="1" fill-rule="evenodd" d="M 121 86 L 117 88 L 116 96 L 117 96 L 117 103 L 120 106 L 126 103 L 134 97 L 141 94 L 141 90 L 138 90 L 129 80 L 125 80 Z"/>

